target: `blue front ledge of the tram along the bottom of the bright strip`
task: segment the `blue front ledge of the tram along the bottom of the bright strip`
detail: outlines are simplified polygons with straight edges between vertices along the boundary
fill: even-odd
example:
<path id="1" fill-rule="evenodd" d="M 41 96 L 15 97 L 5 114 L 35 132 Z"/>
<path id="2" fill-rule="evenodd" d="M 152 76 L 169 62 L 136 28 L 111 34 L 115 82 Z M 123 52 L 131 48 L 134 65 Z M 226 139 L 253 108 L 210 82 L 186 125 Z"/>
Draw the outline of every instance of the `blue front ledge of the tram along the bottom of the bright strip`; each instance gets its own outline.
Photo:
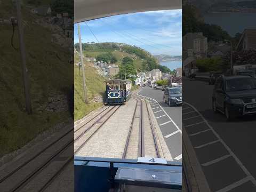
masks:
<path id="1" fill-rule="evenodd" d="M 75 191 L 181 192 L 181 162 L 75 156 Z"/>

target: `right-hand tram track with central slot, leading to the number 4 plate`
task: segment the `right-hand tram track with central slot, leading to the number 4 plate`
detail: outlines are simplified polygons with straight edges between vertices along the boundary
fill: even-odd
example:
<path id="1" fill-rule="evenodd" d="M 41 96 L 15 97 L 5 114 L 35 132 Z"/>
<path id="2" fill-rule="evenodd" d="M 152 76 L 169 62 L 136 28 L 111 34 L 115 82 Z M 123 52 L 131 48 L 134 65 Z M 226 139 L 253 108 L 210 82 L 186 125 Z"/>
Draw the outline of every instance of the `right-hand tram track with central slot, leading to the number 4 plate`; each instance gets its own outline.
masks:
<path id="1" fill-rule="evenodd" d="M 145 157 L 145 153 L 146 154 L 151 153 L 148 150 L 155 150 L 154 157 L 160 157 L 159 149 L 158 149 L 157 141 L 156 141 L 156 135 L 155 135 L 155 131 L 154 131 L 154 126 L 153 126 L 153 120 L 149 114 L 147 102 L 138 97 L 133 96 L 132 98 L 136 100 L 136 106 L 134 109 L 132 122 L 129 127 L 129 133 L 127 135 L 122 158 Z M 145 121 L 147 118 L 149 119 L 150 127 L 147 127 L 147 125 L 145 125 Z M 152 146 L 145 147 L 145 142 L 147 143 L 147 140 L 145 140 L 145 132 L 147 133 L 147 137 L 149 137 L 148 136 L 149 130 L 151 131 L 151 133 L 150 133 L 151 139 L 154 142 L 154 147 L 153 147 L 154 149 L 152 149 Z M 138 139 L 136 140 L 136 139 L 134 139 L 134 137 L 138 137 Z M 137 146 L 135 146 L 135 142 L 137 142 Z M 135 153 L 134 150 L 136 150 L 135 148 L 137 149 L 137 157 L 134 156 L 134 153 Z M 133 156 L 131 155 L 131 153 L 133 153 Z"/>

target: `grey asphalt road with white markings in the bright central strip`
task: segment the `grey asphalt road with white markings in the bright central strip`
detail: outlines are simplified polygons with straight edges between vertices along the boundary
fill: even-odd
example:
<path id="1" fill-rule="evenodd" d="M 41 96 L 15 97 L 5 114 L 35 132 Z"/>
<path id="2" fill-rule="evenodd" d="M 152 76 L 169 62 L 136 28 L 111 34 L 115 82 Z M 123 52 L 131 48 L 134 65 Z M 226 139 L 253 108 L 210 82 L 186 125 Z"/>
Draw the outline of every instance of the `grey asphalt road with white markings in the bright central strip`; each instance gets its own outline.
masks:
<path id="1" fill-rule="evenodd" d="M 181 106 L 168 107 L 163 102 L 164 92 L 148 86 L 143 87 L 138 94 L 154 99 L 149 102 L 164 136 L 166 145 L 170 150 L 173 160 L 181 161 Z"/>

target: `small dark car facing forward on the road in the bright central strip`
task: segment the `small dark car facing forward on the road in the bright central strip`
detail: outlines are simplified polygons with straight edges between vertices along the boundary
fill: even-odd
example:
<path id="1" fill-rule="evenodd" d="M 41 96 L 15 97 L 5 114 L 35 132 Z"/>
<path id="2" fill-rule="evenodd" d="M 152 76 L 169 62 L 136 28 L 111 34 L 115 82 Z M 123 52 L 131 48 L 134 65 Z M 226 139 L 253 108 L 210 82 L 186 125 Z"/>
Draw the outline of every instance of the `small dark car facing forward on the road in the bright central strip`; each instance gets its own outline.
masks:
<path id="1" fill-rule="evenodd" d="M 182 92 L 179 87 L 167 87 L 164 91 L 164 102 L 170 107 L 182 103 Z"/>

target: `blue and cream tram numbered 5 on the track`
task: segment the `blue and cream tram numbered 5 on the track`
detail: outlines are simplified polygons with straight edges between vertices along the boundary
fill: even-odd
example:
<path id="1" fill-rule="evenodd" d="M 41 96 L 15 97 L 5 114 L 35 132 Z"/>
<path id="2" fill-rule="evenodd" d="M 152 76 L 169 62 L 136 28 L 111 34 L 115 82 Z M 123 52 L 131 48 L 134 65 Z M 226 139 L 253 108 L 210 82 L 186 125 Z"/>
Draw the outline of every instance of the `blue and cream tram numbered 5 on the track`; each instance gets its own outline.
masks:
<path id="1" fill-rule="evenodd" d="M 105 105 L 125 104 L 131 97 L 132 82 L 127 79 L 113 79 L 106 81 Z"/>

